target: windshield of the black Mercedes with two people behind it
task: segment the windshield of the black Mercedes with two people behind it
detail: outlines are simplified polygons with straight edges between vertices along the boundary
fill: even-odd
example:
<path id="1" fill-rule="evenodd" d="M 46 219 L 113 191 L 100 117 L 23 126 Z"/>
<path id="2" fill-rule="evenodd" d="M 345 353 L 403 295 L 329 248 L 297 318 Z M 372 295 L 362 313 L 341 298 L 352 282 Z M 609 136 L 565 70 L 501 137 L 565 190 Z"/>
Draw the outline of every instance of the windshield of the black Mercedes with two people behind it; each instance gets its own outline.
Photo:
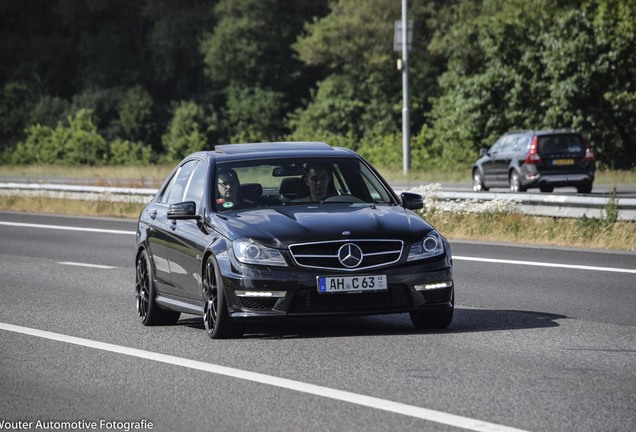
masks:
<path id="1" fill-rule="evenodd" d="M 376 175 L 354 158 L 304 158 L 218 163 L 217 211 L 308 203 L 396 204 Z"/>

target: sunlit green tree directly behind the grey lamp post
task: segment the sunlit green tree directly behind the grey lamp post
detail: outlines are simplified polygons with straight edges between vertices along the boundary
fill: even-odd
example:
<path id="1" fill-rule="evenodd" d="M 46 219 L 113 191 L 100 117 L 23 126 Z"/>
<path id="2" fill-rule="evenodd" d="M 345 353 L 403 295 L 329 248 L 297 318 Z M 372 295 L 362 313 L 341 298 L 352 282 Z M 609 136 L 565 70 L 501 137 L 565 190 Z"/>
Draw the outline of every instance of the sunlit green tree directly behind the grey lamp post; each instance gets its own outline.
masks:
<path id="1" fill-rule="evenodd" d="M 426 49 L 440 2 L 409 3 L 409 20 L 414 22 L 409 108 L 411 128 L 418 131 L 430 108 L 429 98 L 438 92 L 436 76 L 444 67 Z M 402 129 L 402 77 L 396 69 L 401 55 L 393 51 L 400 3 L 341 0 L 330 7 L 329 15 L 305 25 L 306 34 L 294 44 L 299 58 L 326 71 L 326 76 L 307 105 L 290 116 L 292 137 L 322 131 L 353 136 L 363 146 L 383 146 Z"/>

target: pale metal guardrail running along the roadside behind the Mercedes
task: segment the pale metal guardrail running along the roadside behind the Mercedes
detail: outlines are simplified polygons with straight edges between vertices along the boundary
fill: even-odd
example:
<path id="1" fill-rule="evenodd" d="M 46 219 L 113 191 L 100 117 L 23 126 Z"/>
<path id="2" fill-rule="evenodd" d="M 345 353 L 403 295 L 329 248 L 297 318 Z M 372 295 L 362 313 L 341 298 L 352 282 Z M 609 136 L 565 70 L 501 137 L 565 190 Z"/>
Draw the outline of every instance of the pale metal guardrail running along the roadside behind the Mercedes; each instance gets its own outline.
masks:
<path id="1" fill-rule="evenodd" d="M 608 197 L 533 193 L 449 192 L 421 186 L 410 189 L 425 198 L 427 207 L 443 211 L 483 212 L 497 209 L 535 216 L 602 219 L 607 216 Z M 157 192 L 150 188 L 61 185 L 45 183 L 0 183 L 0 194 L 40 196 L 109 202 L 149 202 Z M 398 193 L 400 191 L 397 191 Z M 617 198 L 618 219 L 636 221 L 636 198 Z"/>

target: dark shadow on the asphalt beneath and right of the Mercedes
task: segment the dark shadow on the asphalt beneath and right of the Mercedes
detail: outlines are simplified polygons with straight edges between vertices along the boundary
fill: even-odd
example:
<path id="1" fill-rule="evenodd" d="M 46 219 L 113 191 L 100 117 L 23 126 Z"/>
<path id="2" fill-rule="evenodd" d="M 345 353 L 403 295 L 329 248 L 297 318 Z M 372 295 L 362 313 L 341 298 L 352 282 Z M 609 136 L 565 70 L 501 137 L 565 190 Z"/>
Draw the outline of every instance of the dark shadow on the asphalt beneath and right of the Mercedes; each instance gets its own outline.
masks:
<path id="1" fill-rule="evenodd" d="M 385 336 L 442 333 L 472 333 L 558 327 L 567 318 L 545 312 L 455 308 L 450 327 L 445 330 L 416 330 L 408 314 L 370 317 L 289 318 L 248 323 L 245 338 L 295 339 L 350 336 Z M 200 318 L 180 320 L 180 325 L 203 329 Z"/>

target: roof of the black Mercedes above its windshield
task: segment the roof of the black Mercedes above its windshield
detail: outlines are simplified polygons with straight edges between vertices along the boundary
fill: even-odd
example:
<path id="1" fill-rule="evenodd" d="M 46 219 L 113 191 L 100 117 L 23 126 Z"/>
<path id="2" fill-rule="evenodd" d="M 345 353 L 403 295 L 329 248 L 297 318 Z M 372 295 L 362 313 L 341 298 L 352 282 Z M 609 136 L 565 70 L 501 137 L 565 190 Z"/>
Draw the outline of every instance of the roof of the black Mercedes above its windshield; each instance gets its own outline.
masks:
<path id="1" fill-rule="evenodd" d="M 324 142 L 263 142 L 246 144 L 222 144 L 214 151 L 199 152 L 204 157 L 218 161 L 276 159 L 281 157 L 355 157 L 351 150 L 332 147 Z"/>

